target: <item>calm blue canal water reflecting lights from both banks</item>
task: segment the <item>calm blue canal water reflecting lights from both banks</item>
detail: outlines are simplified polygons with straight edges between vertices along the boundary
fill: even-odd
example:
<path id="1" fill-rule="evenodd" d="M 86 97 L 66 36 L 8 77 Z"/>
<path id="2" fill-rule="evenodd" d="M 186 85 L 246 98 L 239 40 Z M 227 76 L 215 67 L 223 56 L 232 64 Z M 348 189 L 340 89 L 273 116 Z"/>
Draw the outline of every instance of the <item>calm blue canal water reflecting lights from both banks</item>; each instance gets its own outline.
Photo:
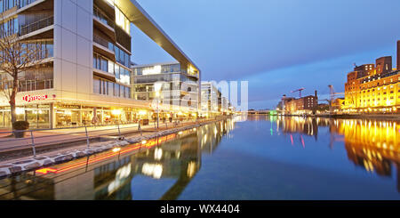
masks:
<path id="1" fill-rule="evenodd" d="M 0 199 L 400 199 L 400 124 L 236 117 L 0 180 Z"/>

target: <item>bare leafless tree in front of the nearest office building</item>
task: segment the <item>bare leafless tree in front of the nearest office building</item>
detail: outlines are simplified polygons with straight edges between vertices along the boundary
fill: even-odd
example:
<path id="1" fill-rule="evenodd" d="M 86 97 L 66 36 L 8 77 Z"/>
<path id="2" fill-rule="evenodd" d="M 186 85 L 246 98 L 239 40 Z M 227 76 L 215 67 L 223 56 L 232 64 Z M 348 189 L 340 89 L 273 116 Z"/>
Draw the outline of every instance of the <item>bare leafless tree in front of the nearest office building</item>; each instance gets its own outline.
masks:
<path id="1" fill-rule="evenodd" d="M 20 77 L 28 69 L 37 68 L 42 60 L 41 47 L 38 44 L 28 44 L 18 34 L 18 29 L 0 22 L 0 74 L 1 91 L 10 103 L 12 129 L 17 121 L 16 96 L 19 90 Z"/>

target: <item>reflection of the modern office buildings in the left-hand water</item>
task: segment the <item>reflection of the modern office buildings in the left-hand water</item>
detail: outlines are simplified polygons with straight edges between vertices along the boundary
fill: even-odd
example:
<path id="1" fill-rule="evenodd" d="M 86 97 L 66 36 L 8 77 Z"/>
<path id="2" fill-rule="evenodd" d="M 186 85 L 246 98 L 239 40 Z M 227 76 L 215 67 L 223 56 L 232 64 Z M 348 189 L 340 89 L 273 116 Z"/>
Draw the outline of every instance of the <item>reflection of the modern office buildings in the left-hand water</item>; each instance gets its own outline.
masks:
<path id="1" fill-rule="evenodd" d="M 134 178 L 173 180 L 159 199 L 177 199 L 234 129 L 227 120 L 0 180 L 0 199 L 135 199 Z"/>

